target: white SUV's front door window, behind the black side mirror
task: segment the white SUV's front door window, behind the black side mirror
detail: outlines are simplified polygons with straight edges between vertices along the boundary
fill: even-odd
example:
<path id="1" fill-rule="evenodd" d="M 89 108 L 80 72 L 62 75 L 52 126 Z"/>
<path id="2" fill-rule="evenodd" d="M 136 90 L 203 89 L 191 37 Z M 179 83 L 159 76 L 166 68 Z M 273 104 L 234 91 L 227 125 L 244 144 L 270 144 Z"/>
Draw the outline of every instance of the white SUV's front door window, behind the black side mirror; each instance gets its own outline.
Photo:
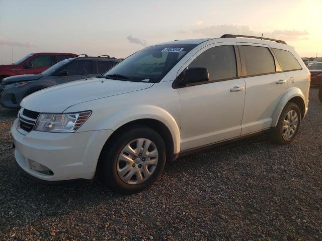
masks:
<path id="1" fill-rule="evenodd" d="M 235 50 L 232 45 L 210 48 L 192 61 L 191 67 L 207 68 L 210 81 L 237 77 Z"/>

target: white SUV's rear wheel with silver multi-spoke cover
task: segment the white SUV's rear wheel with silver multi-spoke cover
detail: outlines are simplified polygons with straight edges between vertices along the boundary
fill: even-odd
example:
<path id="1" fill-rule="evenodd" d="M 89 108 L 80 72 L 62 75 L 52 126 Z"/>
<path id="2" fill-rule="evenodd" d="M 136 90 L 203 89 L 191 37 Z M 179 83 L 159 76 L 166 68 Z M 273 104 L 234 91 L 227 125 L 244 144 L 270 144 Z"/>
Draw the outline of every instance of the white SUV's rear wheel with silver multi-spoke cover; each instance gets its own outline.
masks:
<path id="1" fill-rule="evenodd" d="M 301 112 L 297 104 L 288 102 L 271 133 L 271 139 L 277 144 L 289 144 L 295 138 L 301 123 Z"/>

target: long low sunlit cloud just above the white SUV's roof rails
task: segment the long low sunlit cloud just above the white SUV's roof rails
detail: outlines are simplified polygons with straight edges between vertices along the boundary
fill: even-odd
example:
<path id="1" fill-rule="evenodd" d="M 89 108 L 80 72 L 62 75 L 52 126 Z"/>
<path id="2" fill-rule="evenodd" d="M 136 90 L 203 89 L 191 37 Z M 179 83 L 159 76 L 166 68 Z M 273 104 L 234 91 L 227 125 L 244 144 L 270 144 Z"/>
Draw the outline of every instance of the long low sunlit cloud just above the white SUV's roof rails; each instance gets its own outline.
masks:
<path id="1" fill-rule="evenodd" d="M 186 32 L 179 31 L 178 33 L 186 34 Z M 189 33 L 189 32 L 187 32 Z M 263 32 L 255 31 L 248 25 L 212 25 L 209 27 L 202 27 L 199 29 L 194 29 L 190 32 L 193 35 L 200 35 L 208 38 L 220 37 L 223 34 L 236 34 L 236 35 L 252 35 L 252 36 L 262 36 Z M 264 32 L 263 37 L 274 38 L 281 40 L 305 40 L 308 39 L 309 33 L 307 31 L 297 31 L 297 30 L 274 30 L 272 32 Z"/>

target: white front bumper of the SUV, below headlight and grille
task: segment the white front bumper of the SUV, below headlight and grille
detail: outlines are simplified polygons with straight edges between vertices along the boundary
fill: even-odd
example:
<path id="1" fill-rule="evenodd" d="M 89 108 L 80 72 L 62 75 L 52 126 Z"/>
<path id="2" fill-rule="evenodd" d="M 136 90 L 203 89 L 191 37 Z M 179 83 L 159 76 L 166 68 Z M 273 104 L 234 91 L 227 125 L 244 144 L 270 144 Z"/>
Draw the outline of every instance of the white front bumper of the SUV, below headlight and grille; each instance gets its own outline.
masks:
<path id="1" fill-rule="evenodd" d="M 112 130 L 47 133 L 11 128 L 15 158 L 27 174 L 44 181 L 93 179 L 101 150 Z M 50 172 L 41 172 L 46 167 Z"/>

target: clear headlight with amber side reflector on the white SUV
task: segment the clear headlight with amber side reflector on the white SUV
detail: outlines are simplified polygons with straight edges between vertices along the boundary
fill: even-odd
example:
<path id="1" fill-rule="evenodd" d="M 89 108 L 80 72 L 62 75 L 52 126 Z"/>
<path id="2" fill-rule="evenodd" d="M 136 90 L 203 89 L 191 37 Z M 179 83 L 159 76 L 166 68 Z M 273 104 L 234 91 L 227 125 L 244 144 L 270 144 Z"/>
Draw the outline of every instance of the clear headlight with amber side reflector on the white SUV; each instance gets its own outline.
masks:
<path id="1" fill-rule="evenodd" d="M 35 131 L 71 133 L 81 127 L 90 117 L 92 111 L 69 114 L 40 114 Z"/>

